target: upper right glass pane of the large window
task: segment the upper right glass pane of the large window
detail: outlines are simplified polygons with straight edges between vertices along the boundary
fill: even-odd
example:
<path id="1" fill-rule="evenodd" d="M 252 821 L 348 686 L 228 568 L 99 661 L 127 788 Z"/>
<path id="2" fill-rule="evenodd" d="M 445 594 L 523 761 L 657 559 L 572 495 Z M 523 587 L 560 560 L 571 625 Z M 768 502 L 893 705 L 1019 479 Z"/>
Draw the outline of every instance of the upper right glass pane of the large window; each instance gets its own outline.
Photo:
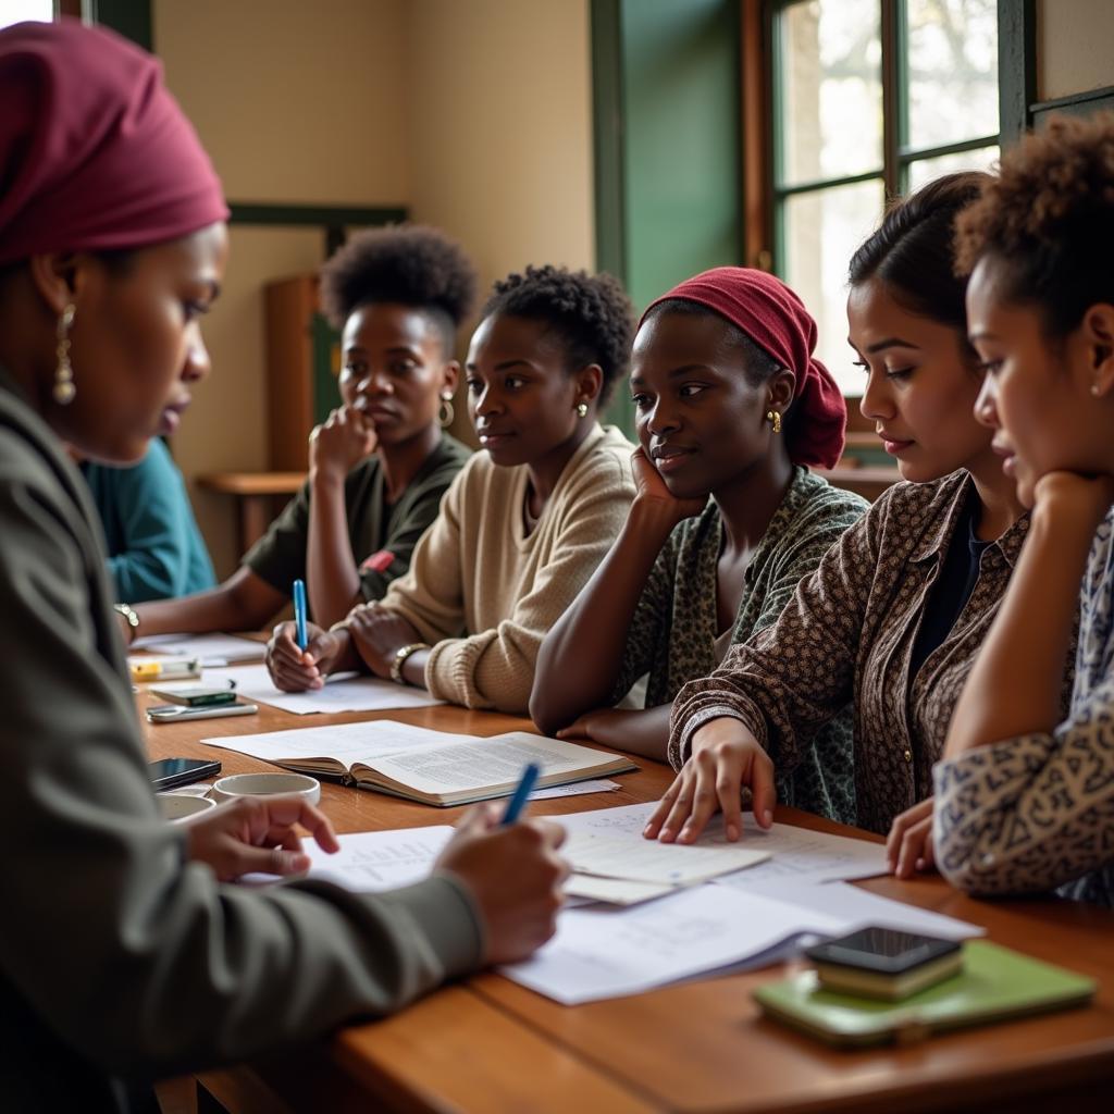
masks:
<path id="1" fill-rule="evenodd" d="M 998 134 L 997 0 L 906 0 L 909 143 Z"/>

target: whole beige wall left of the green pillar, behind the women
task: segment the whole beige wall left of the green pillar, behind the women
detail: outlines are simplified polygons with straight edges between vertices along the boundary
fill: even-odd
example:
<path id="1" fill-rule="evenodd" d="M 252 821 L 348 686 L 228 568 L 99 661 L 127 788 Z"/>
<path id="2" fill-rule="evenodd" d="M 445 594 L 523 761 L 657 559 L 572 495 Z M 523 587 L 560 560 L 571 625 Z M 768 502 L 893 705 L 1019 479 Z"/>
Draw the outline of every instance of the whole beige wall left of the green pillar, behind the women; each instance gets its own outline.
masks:
<path id="1" fill-rule="evenodd" d="M 588 0 L 154 0 L 155 49 L 237 202 L 405 206 L 487 285 L 590 266 Z M 207 471 L 266 467 L 262 286 L 313 270 L 315 229 L 234 226 L 205 321 L 214 372 L 175 438 L 217 573 L 233 508 Z"/>

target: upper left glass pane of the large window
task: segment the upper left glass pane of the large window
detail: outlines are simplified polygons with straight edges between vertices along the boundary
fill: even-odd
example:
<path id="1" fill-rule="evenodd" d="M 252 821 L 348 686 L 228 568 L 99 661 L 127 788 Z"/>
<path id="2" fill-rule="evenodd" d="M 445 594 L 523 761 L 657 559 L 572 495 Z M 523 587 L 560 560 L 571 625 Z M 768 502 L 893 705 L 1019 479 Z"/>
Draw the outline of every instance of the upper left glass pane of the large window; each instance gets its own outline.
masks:
<path id="1" fill-rule="evenodd" d="M 804 0 L 780 18 L 783 185 L 882 165 L 878 0 Z"/>

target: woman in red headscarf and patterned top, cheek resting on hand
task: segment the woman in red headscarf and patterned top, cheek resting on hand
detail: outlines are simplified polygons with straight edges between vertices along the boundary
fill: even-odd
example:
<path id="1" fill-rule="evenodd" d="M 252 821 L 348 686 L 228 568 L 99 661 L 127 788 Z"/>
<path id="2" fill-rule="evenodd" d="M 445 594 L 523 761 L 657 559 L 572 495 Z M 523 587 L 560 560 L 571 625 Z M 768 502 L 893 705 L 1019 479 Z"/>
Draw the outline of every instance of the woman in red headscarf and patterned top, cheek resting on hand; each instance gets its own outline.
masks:
<path id="1" fill-rule="evenodd" d="M 745 267 L 696 275 L 646 311 L 631 373 L 638 496 L 543 646 L 530 700 L 543 730 L 664 761 L 681 686 L 773 623 L 862 515 L 808 468 L 836 462 L 847 424 L 815 334 L 784 283 Z M 612 707 L 647 672 L 645 710 Z M 849 717 L 779 788 L 853 819 Z"/>

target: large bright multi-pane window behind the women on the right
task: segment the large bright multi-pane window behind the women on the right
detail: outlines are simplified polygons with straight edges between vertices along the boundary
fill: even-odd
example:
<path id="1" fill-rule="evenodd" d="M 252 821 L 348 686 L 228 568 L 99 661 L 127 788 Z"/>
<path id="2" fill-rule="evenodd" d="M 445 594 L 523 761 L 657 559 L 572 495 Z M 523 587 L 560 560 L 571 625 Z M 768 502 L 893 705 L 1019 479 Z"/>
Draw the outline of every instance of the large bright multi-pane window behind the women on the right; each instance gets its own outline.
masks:
<path id="1" fill-rule="evenodd" d="M 847 264 L 887 196 L 998 157 L 997 0 L 771 4 L 774 268 L 846 393 Z"/>

